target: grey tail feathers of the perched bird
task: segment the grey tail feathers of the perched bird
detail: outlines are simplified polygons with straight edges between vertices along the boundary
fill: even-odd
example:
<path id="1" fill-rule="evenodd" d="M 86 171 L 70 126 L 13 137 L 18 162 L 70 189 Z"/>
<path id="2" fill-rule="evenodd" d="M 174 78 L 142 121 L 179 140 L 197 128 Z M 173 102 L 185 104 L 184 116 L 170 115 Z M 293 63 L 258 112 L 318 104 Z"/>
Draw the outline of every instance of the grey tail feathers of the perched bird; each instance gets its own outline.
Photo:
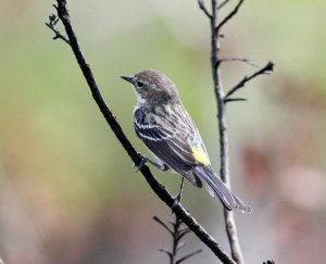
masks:
<path id="1" fill-rule="evenodd" d="M 243 213 L 250 213 L 251 209 L 240 198 L 234 194 L 222 179 L 215 174 L 213 168 L 209 166 L 196 166 L 193 168 L 193 174 L 199 177 L 210 192 L 211 196 L 216 196 L 224 208 L 231 211 L 234 209 L 240 209 Z"/>

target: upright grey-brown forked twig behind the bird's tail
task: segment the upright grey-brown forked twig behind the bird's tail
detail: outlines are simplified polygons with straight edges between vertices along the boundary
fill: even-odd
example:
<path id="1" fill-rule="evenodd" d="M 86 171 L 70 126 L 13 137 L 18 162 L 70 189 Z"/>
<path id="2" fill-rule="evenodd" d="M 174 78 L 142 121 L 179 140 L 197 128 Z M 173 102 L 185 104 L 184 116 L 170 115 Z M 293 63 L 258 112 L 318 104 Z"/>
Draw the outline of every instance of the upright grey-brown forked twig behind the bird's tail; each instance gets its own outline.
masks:
<path id="1" fill-rule="evenodd" d="M 218 4 L 218 0 L 211 0 L 212 2 L 212 16 L 211 16 L 211 66 L 212 66 L 212 77 L 214 83 L 214 92 L 217 102 L 217 121 L 218 121 L 218 134 L 220 134 L 220 175 L 223 181 L 230 186 L 230 172 L 229 172 L 229 147 L 228 147 L 228 136 L 227 136 L 227 121 L 226 121 L 226 103 L 235 101 L 246 101 L 244 98 L 230 98 L 230 96 L 238 90 L 241 86 L 244 86 L 247 81 L 254 78 L 255 76 L 265 73 L 264 71 L 256 72 L 250 77 L 246 77 L 244 80 L 240 81 L 235 88 L 233 88 L 227 95 L 224 92 L 223 81 L 221 76 L 221 63 L 225 61 L 241 61 L 252 66 L 252 63 L 247 59 L 221 59 L 220 51 L 220 38 L 224 36 L 221 34 L 221 29 L 227 22 L 229 22 L 239 11 L 244 0 L 239 0 L 234 10 L 228 13 L 220 22 L 218 11 L 222 7 L 228 3 L 228 0 L 224 0 Z M 254 65 L 255 66 L 255 65 Z M 272 65 L 268 65 L 267 68 L 272 68 Z M 225 218 L 225 229 L 227 238 L 229 241 L 233 259 L 238 264 L 243 264 L 243 256 L 239 243 L 239 238 L 237 235 L 237 226 L 234 218 L 233 212 L 224 210 Z"/>

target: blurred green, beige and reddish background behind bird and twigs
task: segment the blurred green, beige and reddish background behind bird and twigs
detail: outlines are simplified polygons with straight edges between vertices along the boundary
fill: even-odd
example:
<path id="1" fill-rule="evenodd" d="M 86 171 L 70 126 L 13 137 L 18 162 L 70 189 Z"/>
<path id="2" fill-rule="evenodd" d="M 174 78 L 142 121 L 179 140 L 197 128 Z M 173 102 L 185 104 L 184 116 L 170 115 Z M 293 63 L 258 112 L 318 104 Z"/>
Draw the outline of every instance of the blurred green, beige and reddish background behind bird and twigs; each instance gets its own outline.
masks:
<path id="1" fill-rule="evenodd" d="M 209 2 L 209 1 L 208 1 Z M 234 1 L 231 1 L 234 2 Z M 0 0 L 0 255 L 9 264 L 167 263 L 171 212 L 108 128 L 70 48 L 45 26 L 53 1 Z M 231 8 L 231 4 L 229 5 Z M 229 8 L 225 8 L 224 13 Z M 68 1 L 99 87 L 137 150 L 136 98 L 118 76 L 166 73 L 218 167 L 209 22 L 197 1 Z M 236 212 L 248 263 L 322 263 L 326 244 L 326 2 L 248 0 L 224 28 L 223 56 L 249 58 L 273 75 L 229 104 Z M 225 63 L 226 88 L 256 71 Z M 179 178 L 153 172 L 176 193 Z M 228 250 L 222 209 L 186 185 L 183 204 Z M 187 263 L 216 263 L 193 236 Z"/>

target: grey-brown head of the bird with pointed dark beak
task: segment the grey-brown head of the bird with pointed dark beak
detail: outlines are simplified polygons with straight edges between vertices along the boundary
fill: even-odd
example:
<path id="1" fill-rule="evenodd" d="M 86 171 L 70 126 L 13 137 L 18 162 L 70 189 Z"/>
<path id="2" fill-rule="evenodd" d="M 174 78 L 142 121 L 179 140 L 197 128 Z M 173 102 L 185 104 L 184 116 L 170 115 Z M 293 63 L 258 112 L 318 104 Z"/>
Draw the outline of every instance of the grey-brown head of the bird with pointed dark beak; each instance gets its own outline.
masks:
<path id="1" fill-rule="evenodd" d="M 145 70 L 134 76 L 121 77 L 134 86 L 140 104 L 165 104 L 179 101 L 174 83 L 159 71 Z"/>

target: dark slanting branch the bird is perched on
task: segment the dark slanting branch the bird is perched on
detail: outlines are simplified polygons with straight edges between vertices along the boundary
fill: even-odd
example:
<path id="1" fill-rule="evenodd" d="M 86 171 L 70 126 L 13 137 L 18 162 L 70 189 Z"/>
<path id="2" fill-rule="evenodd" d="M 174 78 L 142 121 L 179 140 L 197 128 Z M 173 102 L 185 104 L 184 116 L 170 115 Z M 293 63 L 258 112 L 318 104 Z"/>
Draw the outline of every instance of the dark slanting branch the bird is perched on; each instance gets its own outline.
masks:
<path id="1" fill-rule="evenodd" d="M 112 111 L 109 109 L 109 106 L 105 104 L 102 95 L 100 93 L 100 90 L 98 88 L 98 85 L 93 78 L 93 75 L 90 71 L 89 65 L 87 64 L 77 38 L 75 36 L 75 33 L 71 25 L 70 15 L 66 9 L 66 1 L 65 0 L 57 0 L 58 2 L 58 16 L 62 21 L 65 32 L 67 34 L 68 40 L 71 42 L 71 48 L 75 54 L 75 58 L 78 62 L 78 65 L 85 76 L 85 79 L 87 80 L 87 84 L 91 90 L 92 97 L 98 104 L 100 111 L 102 112 L 105 121 L 108 122 L 109 126 L 111 127 L 112 131 L 118 139 L 118 141 L 122 143 L 130 159 L 136 165 L 139 165 L 141 163 L 141 156 L 138 155 L 135 148 L 131 146 L 128 138 L 125 136 L 122 127 L 120 126 L 118 122 L 116 121 L 116 117 L 113 115 Z M 204 243 L 206 244 L 212 252 L 225 264 L 235 264 L 235 262 L 230 259 L 230 256 L 221 248 L 221 246 L 215 241 L 214 238 L 212 238 L 198 223 L 197 221 L 178 203 L 175 204 L 174 198 L 171 196 L 171 193 L 165 189 L 165 187 L 158 181 L 158 179 L 152 175 L 149 167 L 143 165 L 140 168 L 141 174 L 152 188 L 152 190 L 156 193 L 156 196 L 166 203 L 167 206 L 170 206 L 173 212 L 178 215 L 183 219 L 183 222 L 196 234 L 196 236 Z"/>

